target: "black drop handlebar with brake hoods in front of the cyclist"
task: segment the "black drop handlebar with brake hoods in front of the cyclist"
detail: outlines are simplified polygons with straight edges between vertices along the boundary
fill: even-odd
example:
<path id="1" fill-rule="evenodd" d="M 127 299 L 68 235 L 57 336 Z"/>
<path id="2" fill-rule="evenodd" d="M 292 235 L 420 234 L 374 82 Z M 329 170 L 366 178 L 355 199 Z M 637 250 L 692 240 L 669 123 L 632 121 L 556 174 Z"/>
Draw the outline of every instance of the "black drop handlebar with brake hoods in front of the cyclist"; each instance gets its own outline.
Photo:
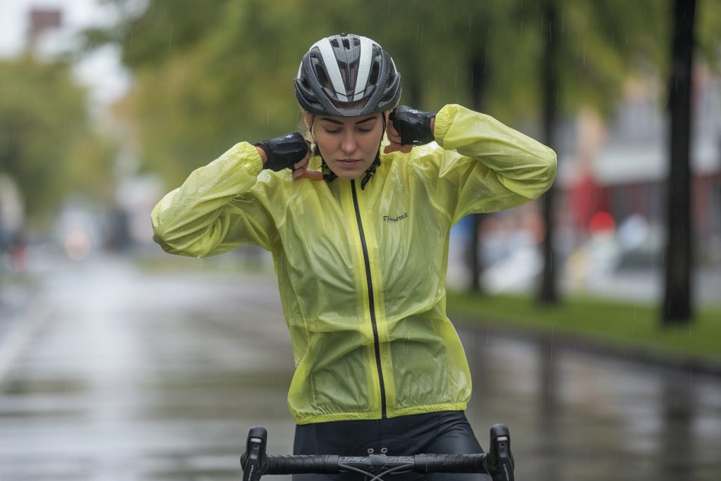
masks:
<path id="1" fill-rule="evenodd" d="M 266 455 L 265 428 L 252 428 L 241 457 L 244 481 L 258 481 L 262 475 L 337 474 L 362 472 L 373 479 L 390 472 L 478 472 L 494 481 L 513 481 L 510 433 L 502 424 L 490 431 L 490 449 L 481 454 L 416 454 L 415 456 L 337 456 L 335 454 Z"/>

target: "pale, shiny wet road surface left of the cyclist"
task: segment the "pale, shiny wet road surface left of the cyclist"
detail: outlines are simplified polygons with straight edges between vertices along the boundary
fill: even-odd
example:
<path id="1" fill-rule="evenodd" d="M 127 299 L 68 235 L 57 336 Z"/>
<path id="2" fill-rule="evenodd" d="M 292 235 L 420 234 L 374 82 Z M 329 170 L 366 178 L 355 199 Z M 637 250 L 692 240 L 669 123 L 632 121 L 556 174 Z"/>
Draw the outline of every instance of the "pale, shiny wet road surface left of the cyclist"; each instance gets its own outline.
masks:
<path id="1" fill-rule="evenodd" d="M 88 261 L 53 274 L 27 317 L 4 343 L 22 349 L 0 385 L 0 480 L 239 479 L 255 424 L 291 449 L 272 278 Z"/>

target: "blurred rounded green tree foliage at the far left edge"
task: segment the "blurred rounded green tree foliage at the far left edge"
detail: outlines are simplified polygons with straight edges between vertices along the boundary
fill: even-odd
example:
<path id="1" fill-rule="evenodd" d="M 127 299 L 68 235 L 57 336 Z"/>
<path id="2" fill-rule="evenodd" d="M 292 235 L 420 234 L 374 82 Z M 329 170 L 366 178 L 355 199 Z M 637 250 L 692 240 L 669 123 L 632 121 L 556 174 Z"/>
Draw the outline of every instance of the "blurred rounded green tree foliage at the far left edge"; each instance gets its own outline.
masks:
<path id="1" fill-rule="evenodd" d="M 85 93 L 65 63 L 0 61 L 0 172 L 20 187 L 28 216 L 57 206 L 69 159 L 88 133 Z"/>

